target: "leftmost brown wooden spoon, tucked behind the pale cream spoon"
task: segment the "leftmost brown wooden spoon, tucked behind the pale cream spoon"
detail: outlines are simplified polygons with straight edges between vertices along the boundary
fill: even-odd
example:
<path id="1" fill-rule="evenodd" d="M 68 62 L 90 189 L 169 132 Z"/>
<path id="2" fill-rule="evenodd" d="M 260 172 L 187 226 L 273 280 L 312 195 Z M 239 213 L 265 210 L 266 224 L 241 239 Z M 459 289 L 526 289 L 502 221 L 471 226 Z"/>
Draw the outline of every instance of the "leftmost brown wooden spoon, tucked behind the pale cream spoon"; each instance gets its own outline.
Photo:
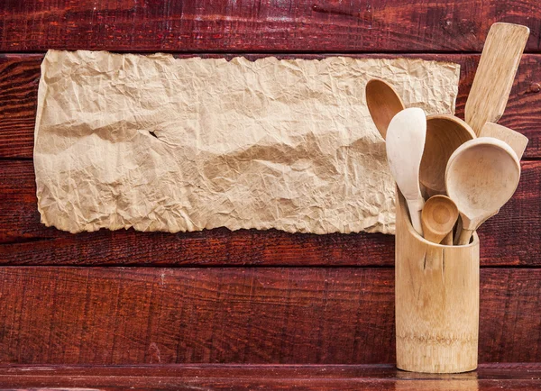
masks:
<path id="1" fill-rule="evenodd" d="M 379 78 L 372 78 L 366 84 L 366 104 L 372 121 L 385 140 L 390 120 L 404 110 L 402 99 L 389 83 Z"/>

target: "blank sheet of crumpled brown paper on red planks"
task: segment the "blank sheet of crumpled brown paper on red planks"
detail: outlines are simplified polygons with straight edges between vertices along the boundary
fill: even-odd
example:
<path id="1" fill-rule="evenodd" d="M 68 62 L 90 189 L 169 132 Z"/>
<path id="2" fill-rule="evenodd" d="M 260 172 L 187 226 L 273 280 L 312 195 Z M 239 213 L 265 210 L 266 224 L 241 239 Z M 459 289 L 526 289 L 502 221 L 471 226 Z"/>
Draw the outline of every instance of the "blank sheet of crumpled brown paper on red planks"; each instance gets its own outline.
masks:
<path id="1" fill-rule="evenodd" d="M 50 50 L 34 165 L 41 222 L 69 232 L 394 232 L 364 86 L 453 113 L 459 66 L 420 59 L 174 59 Z"/>

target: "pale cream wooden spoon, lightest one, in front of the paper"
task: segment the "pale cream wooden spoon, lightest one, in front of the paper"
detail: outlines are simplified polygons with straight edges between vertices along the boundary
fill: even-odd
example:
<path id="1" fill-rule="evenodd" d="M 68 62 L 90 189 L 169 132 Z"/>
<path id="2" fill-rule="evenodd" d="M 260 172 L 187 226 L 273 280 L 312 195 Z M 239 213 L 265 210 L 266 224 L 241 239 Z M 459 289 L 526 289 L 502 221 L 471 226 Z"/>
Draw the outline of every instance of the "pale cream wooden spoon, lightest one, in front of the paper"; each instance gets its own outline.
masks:
<path id="1" fill-rule="evenodd" d="M 419 166 L 425 138 L 425 112 L 414 107 L 402 110 L 392 118 L 385 142 L 390 172 L 408 203 L 411 225 L 421 235 L 421 210 L 425 200 L 419 187 Z"/>

